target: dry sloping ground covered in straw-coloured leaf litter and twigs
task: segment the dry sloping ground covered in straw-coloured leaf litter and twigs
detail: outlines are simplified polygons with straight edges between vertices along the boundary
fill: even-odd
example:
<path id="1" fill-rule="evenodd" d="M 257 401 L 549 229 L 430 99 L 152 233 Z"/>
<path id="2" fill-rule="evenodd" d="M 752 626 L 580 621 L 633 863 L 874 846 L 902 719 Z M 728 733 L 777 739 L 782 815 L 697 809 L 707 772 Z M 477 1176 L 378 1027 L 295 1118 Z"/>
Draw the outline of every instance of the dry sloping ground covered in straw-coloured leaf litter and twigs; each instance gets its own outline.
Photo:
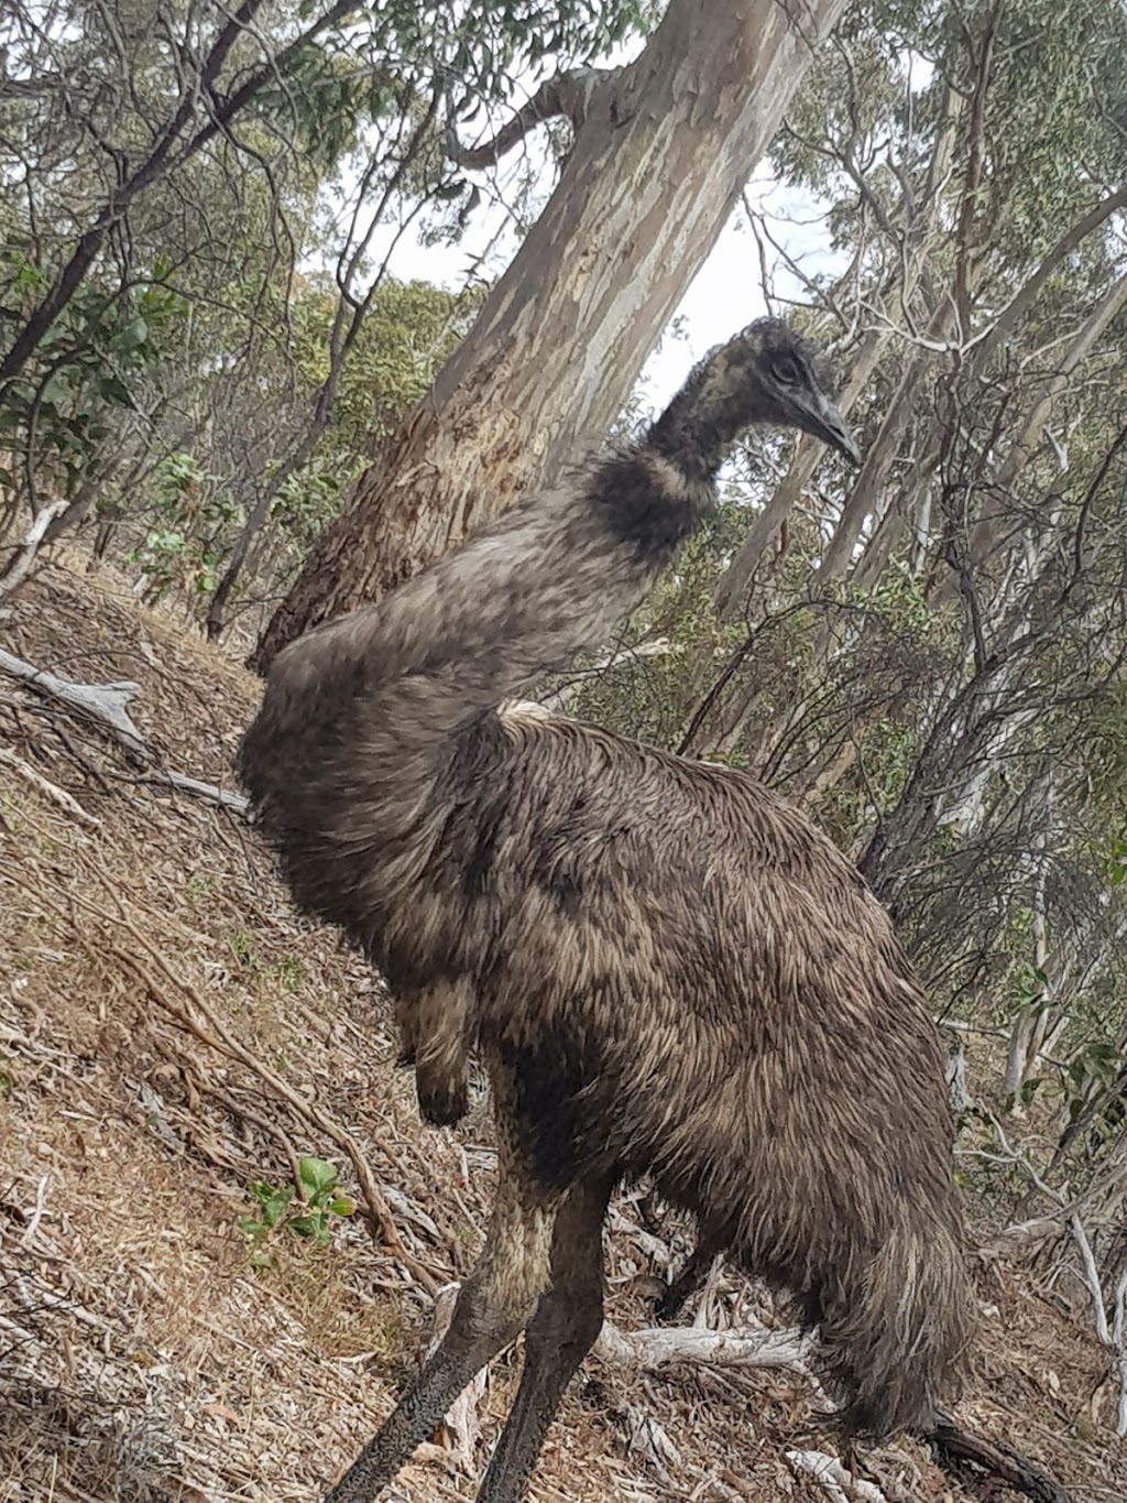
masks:
<path id="1" fill-rule="evenodd" d="M 153 765 L 230 783 L 254 681 L 113 582 L 47 567 L 0 642 L 74 681 L 135 681 Z M 488 1118 L 479 1103 L 458 1132 L 419 1124 L 370 972 L 293 917 L 236 815 L 147 771 L 0 678 L 0 1500 L 311 1500 L 413 1369 L 428 1291 L 472 1261 Z M 325 1247 L 283 1226 L 251 1255 L 248 1184 L 292 1184 L 302 1154 L 334 1162 L 358 1199 L 367 1184 L 394 1255 L 361 1214 Z M 624 1202 L 610 1240 L 624 1329 L 648 1324 L 675 1240 L 642 1222 Z M 962 1417 L 1085 1503 L 1127 1497 L 1083 1312 L 996 1267 L 981 1299 Z M 771 1318 L 727 1276 L 709 1311 Z M 512 1359 L 496 1365 L 467 1467 L 433 1447 L 389 1495 L 473 1497 L 514 1378 Z M 825 1498 L 786 1459 L 831 1447 L 816 1420 L 784 1371 L 631 1377 L 592 1359 L 533 1498 Z M 1013 1497 L 953 1482 L 908 1441 L 867 1464 L 893 1503 Z"/>

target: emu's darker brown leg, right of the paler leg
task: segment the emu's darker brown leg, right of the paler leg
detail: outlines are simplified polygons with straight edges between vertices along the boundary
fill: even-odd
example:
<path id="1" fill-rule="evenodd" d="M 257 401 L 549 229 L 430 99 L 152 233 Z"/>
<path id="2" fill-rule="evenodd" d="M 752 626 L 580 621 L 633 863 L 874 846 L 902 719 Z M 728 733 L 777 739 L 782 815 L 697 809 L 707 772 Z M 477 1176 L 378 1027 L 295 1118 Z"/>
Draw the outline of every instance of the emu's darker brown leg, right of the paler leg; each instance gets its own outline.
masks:
<path id="1" fill-rule="evenodd" d="M 478 1503 L 518 1503 L 564 1390 L 603 1329 L 603 1220 L 612 1181 L 573 1186 L 556 1217 L 551 1287 L 524 1332 L 524 1372 Z"/>

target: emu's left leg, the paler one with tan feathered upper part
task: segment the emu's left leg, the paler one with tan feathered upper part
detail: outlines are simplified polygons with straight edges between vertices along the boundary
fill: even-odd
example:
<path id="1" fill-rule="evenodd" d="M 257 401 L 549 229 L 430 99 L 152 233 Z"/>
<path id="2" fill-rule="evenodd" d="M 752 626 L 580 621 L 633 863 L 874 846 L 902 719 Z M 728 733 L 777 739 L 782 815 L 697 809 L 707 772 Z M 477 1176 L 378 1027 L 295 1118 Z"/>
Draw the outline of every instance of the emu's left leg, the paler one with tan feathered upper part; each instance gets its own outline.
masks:
<path id="1" fill-rule="evenodd" d="M 430 1362 L 349 1467 L 325 1503 L 371 1503 L 487 1362 L 526 1326 L 548 1287 L 559 1199 L 545 1202 L 502 1157 L 485 1247 L 463 1284 L 449 1330 Z"/>

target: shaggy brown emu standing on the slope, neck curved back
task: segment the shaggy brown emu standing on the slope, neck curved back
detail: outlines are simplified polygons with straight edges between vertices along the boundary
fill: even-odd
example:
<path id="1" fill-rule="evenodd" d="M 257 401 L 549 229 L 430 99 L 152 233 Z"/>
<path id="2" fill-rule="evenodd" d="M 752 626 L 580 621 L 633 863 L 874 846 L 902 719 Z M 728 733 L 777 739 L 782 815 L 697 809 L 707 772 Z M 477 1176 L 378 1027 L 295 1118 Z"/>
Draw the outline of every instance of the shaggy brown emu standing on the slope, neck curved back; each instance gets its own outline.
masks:
<path id="1" fill-rule="evenodd" d="M 926 1428 L 959 1378 L 951 1115 L 885 911 L 754 779 L 518 702 L 607 640 L 756 422 L 858 460 L 820 358 L 760 320 L 637 445 L 269 673 L 239 773 L 290 891 L 382 971 L 431 1121 L 464 1114 L 476 1051 L 499 1145 L 449 1332 L 332 1503 L 374 1497 L 521 1330 L 478 1497 L 524 1497 L 601 1327 L 607 1201 L 646 1174 L 819 1329 L 848 1434 Z"/>

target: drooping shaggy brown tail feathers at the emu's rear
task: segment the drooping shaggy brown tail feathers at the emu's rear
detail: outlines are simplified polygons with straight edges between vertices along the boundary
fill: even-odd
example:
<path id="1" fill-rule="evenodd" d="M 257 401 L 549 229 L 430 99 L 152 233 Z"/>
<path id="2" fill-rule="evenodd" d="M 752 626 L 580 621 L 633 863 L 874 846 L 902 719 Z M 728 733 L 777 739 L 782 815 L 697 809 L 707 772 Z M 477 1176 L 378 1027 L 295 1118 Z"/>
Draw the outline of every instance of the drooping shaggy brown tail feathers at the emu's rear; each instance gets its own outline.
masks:
<path id="1" fill-rule="evenodd" d="M 846 1398 L 848 1434 L 930 1431 L 957 1396 L 971 1338 L 971 1294 L 959 1238 L 935 1222 L 903 1225 L 860 1287 L 826 1302 L 822 1354 Z"/>

